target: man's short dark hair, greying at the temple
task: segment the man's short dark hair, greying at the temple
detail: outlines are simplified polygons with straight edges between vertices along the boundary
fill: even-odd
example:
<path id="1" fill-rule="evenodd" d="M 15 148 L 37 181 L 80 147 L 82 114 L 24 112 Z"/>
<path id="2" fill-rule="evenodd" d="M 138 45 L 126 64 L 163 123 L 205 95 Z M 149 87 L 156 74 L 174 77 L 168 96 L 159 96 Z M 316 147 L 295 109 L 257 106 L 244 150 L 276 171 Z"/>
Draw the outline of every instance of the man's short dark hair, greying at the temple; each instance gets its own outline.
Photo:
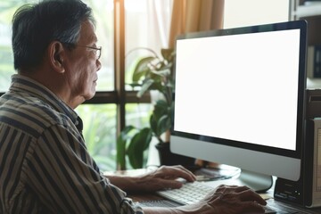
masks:
<path id="1" fill-rule="evenodd" d="M 45 0 L 22 5 L 12 18 L 14 69 L 36 68 L 53 41 L 74 48 L 83 21 L 95 24 L 91 8 L 80 0 Z"/>

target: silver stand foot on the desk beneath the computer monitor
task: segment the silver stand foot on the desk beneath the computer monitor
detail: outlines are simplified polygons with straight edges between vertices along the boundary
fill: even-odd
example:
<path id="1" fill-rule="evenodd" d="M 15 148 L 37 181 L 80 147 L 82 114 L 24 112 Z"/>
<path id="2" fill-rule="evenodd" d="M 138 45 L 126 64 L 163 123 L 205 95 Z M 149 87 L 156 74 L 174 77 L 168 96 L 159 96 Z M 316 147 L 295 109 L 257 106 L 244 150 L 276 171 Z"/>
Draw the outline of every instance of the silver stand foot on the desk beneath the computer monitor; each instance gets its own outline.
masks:
<path id="1" fill-rule="evenodd" d="M 204 185 L 246 185 L 257 193 L 267 192 L 273 185 L 273 177 L 241 169 L 238 177 L 205 182 Z"/>

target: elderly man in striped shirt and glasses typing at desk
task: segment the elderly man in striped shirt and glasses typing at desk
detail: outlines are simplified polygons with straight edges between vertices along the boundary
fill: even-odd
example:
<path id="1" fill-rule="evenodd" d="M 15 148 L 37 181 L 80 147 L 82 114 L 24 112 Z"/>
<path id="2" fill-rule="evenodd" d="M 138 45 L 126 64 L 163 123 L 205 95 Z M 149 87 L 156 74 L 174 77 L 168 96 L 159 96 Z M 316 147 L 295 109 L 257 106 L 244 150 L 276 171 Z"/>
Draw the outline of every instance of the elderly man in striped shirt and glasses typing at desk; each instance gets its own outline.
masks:
<path id="1" fill-rule="evenodd" d="M 101 47 L 79 0 L 22 6 L 12 20 L 14 69 L 0 98 L 1 213 L 243 213 L 266 202 L 245 186 L 219 186 L 202 202 L 141 208 L 124 191 L 179 188 L 182 167 L 141 177 L 104 177 L 86 151 L 74 109 L 95 95 Z"/>

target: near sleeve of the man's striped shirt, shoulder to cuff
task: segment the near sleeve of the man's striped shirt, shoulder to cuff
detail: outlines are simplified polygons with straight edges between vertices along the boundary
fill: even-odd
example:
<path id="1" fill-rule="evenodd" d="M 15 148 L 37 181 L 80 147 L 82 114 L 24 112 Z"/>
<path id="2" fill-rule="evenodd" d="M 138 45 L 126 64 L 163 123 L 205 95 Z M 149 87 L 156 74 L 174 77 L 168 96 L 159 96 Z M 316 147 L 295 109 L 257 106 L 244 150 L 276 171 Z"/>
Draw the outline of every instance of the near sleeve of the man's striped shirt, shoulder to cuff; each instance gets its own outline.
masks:
<path id="1" fill-rule="evenodd" d="M 55 125 L 33 144 L 25 174 L 35 197 L 53 213 L 144 213 L 101 175 L 77 130 Z"/>

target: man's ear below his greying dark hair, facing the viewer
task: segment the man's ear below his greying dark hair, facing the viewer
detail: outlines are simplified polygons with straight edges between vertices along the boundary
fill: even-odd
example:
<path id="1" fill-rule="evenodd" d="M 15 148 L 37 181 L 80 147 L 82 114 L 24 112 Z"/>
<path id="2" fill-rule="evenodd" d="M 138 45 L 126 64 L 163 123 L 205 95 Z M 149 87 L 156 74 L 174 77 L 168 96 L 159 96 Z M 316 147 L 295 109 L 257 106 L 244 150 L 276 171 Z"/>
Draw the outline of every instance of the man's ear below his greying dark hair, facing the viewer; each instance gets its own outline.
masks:
<path id="1" fill-rule="evenodd" d="M 66 49 L 61 42 L 53 41 L 49 44 L 48 49 L 48 60 L 54 71 L 63 73 L 65 71 L 63 60 L 66 55 Z"/>

